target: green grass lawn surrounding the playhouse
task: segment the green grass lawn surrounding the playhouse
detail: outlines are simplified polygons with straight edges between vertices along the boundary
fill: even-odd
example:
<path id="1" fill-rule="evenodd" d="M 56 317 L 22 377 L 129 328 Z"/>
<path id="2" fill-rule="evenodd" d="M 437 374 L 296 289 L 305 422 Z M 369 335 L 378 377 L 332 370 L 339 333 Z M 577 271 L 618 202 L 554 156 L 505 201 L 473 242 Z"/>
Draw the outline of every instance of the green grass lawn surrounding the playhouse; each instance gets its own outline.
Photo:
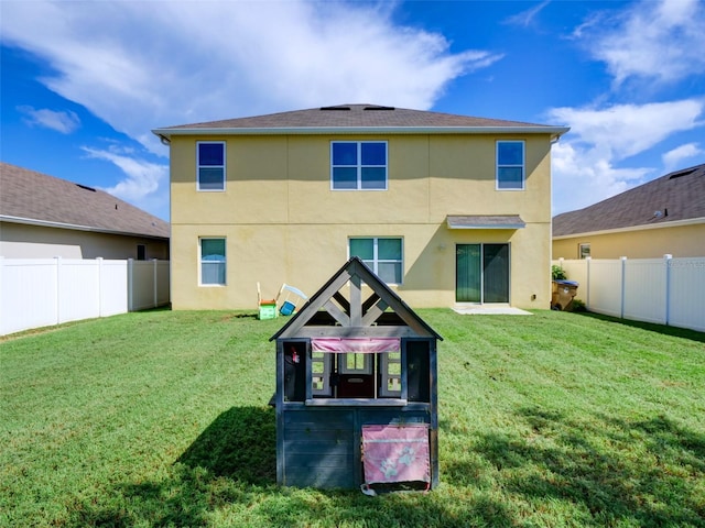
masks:
<path id="1" fill-rule="evenodd" d="M 155 310 L 0 341 L 0 526 L 705 526 L 705 334 L 419 314 L 437 490 L 278 487 L 283 320 Z"/>

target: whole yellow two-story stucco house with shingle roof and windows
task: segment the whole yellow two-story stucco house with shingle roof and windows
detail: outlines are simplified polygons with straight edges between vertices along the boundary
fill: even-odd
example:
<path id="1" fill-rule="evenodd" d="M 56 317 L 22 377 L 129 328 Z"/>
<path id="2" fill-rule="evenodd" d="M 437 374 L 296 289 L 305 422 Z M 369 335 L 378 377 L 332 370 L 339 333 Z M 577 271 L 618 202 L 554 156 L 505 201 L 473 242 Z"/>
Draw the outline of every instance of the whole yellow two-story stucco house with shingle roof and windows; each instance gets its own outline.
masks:
<path id="1" fill-rule="evenodd" d="M 565 127 L 372 105 L 156 129 L 171 145 L 172 302 L 310 295 L 359 256 L 414 307 L 551 299 Z"/>

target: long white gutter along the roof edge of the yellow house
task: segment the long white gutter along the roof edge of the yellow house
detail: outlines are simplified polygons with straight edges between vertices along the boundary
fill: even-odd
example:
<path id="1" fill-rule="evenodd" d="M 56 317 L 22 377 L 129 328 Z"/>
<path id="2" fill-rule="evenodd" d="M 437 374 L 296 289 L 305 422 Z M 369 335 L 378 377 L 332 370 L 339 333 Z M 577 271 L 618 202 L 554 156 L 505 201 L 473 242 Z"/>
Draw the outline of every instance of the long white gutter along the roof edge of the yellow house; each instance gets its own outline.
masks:
<path id="1" fill-rule="evenodd" d="M 154 129 L 161 139 L 172 135 L 339 135 L 339 134 L 551 134 L 560 138 L 568 127 L 285 127 Z"/>

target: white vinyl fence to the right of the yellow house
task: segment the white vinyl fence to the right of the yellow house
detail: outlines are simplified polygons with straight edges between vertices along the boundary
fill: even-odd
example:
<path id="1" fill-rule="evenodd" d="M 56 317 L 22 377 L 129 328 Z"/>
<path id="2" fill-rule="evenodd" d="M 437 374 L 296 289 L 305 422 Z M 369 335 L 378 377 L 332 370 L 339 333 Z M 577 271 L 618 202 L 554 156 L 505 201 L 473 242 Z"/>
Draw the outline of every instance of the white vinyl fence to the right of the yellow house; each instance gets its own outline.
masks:
<path id="1" fill-rule="evenodd" d="M 589 311 L 705 332 L 705 257 L 553 261 Z"/>

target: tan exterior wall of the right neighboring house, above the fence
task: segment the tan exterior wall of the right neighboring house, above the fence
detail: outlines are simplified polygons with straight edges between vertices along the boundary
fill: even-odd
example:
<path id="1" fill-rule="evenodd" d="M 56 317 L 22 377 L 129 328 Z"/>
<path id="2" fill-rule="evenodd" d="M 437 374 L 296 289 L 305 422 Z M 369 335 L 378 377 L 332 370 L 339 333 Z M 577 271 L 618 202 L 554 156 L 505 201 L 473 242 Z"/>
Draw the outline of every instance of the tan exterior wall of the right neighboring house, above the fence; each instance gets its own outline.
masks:
<path id="1" fill-rule="evenodd" d="M 593 258 L 705 256 L 705 223 L 554 240 L 553 257 L 579 258 L 579 244 L 590 244 Z"/>

